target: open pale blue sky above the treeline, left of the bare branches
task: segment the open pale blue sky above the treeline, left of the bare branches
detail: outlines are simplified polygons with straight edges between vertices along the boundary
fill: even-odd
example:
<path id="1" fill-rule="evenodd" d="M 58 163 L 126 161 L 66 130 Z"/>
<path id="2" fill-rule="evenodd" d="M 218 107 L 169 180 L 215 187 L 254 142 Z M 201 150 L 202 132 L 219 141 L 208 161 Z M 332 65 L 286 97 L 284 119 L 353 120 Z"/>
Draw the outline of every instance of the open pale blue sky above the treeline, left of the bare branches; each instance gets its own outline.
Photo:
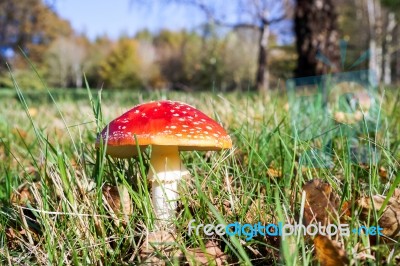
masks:
<path id="1" fill-rule="evenodd" d="M 71 22 L 77 32 L 89 38 L 107 34 L 116 39 L 147 28 L 193 28 L 204 22 L 204 15 L 193 7 L 162 5 L 159 1 L 136 0 L 57 0 L 56 12 Z M 151 2 L 151 4 L 149 4 Z"/>

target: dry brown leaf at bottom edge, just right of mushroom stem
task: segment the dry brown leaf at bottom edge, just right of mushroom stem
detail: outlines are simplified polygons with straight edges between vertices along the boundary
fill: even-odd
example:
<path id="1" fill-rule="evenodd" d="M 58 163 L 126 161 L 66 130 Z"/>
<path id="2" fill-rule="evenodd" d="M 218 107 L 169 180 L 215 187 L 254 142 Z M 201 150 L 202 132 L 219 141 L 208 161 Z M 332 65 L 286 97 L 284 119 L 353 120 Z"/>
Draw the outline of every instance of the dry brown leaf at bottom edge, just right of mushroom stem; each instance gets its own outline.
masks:
<path id="1" fill-rule="evenodd" d="M 224 254 L 214 241 L 201 248 L 188 249 L 186 259 L 189 265 L 224 265 L 227 264 L 228 256 Z"/>

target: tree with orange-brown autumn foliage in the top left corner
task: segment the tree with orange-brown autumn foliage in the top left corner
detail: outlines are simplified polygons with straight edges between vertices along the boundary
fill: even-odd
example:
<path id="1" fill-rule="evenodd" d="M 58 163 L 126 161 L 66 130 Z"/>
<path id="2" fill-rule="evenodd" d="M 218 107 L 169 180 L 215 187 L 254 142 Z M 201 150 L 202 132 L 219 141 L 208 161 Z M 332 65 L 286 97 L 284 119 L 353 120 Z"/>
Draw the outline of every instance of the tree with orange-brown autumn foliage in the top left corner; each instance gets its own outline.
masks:
<path id="1" fill-rule="evenodd" d="M 32 61 L 38 62 L 53 40 L 72 32 L 70 24 L 60 19 L 42 0 L 0 1 L 2 60 L 6 59 L 7 51 L 14 65 L 18 66 L 24 61 L 18 60 L 19 49 L 22 49 Z"/>

